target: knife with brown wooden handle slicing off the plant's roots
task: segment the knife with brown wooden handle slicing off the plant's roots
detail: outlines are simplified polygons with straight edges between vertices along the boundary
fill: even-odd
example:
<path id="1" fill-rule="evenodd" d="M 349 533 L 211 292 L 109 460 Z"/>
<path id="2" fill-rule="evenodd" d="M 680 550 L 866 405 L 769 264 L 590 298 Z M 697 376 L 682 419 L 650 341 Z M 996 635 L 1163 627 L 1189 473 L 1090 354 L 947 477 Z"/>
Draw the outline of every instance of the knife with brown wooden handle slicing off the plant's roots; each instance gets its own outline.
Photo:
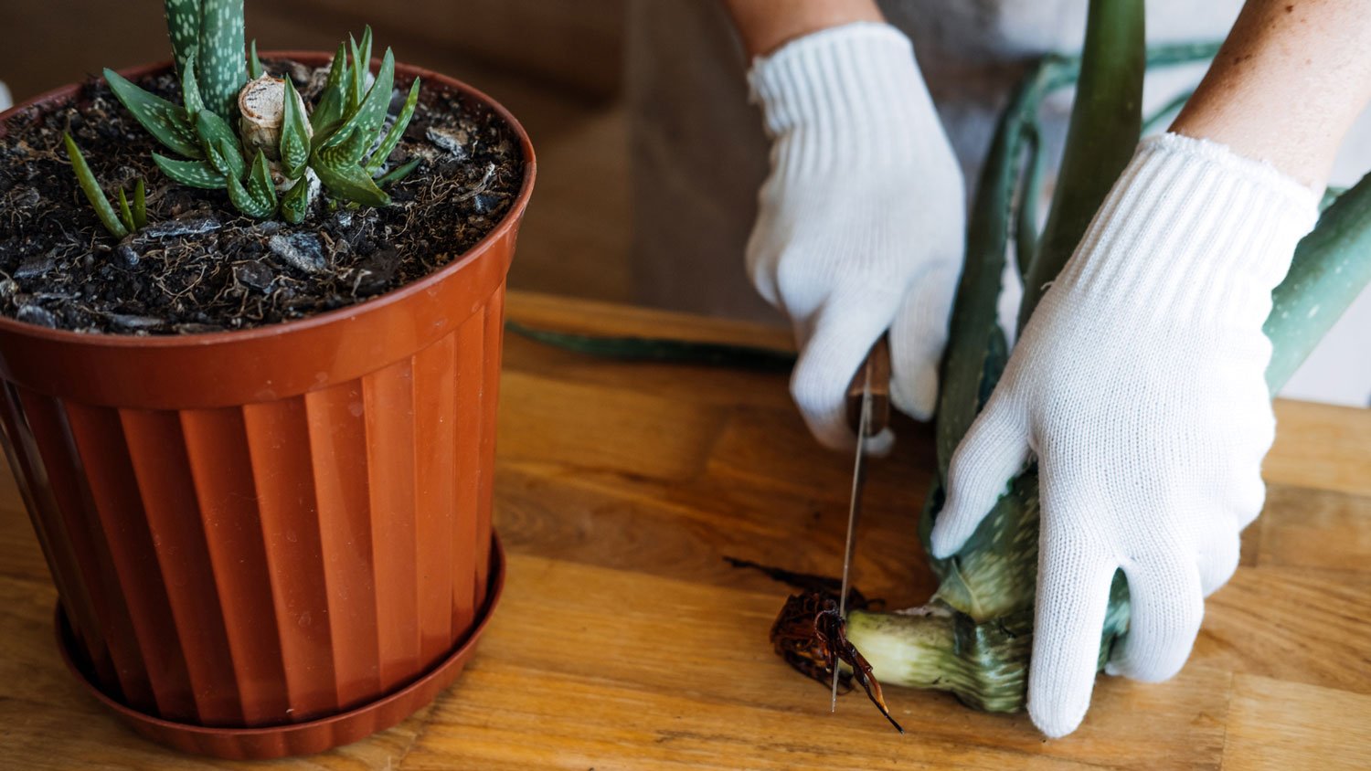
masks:
<path id="1" fill-rule="evenodd" d="M 861 494 L 866 483 L 866 441 L 890 423 L 890 341 L 886 336 L 872 345 L 866 360 L 847 386 L 847 423 L 857 434 L 857 457 L 853 460 L 853 489 L 847 505 L 847 538 L 843 542 L 843 582 L 838 594 L 838 616 L 847 622 L 847 587 L 851 577 L 853 551 L 857 546 L 857 522 L 861 519 Z M 838 661 L 828 707 L 838 711 Z"/>

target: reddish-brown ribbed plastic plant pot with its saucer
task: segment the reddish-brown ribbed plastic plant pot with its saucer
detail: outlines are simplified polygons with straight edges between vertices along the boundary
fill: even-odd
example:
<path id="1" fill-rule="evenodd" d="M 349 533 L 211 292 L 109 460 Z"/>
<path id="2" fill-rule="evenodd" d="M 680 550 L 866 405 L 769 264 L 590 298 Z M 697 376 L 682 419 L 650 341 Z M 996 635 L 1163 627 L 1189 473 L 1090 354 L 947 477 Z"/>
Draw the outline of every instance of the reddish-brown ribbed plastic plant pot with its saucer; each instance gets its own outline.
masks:
<path id="1" fill-rule="evenodd" d="M 533 148 L 485 94 L 396 66 L 415 75 L 488 105 L 525 159 L 505 219 L 439 271 L 244 331 L 0 318 L 0 426 L 60 596 L 63 656 L 156 741 L 258 759 L 356 741 L 451 683 L 499 598 L 505 275 Z M 0 137 L 77 90 L 0 114 Z"/>

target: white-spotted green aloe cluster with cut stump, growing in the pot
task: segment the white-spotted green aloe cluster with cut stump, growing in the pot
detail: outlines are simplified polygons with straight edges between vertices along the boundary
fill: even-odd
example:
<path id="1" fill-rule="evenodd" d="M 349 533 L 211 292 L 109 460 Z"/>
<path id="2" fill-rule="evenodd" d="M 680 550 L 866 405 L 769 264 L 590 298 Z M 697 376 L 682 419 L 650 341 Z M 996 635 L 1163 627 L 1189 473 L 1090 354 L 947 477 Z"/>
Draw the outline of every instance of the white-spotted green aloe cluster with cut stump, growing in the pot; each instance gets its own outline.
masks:
<path id="1" fill-rule="evenodd" d="M 154 153 L 158 168 L 173 181 L 226 190 L 234 208 L 248 216 L 280 214 L 300 223 L 317 184 L 339 201 L 383 207 L 391 203 L 383 188 L 418 166 L 387 167 L 414 115 L 420 79 L 387 126 L 395 56 L 387 49 L 372 75 L 370 27 L 361 42 L 350 38 L 339 45 L 310 111 L 289 78 L 263 71 L 255 41 L 245 53 L 243 0 L 165 0 L 165 11 L 181 104 L 112 70 L 104 70 L 104 78 L 138 123 L 173 153 Z"/>

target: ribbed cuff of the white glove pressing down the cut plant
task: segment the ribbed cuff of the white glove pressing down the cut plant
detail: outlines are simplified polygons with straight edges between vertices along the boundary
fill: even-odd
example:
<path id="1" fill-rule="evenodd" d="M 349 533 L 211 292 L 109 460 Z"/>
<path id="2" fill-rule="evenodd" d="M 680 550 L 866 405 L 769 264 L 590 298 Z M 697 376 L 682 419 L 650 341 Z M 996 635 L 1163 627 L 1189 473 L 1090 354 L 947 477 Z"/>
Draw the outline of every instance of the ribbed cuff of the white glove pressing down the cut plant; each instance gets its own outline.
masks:
<path id="1" fill-rule="evenodd" d="M 1222 144 L 1152 137 L 1060 281 L 1084 297 L 1130 293 L 1154 314 L 1260 326 L 1271 290 L 1318 220 L 1318 201 L 1309 188 Z"/>

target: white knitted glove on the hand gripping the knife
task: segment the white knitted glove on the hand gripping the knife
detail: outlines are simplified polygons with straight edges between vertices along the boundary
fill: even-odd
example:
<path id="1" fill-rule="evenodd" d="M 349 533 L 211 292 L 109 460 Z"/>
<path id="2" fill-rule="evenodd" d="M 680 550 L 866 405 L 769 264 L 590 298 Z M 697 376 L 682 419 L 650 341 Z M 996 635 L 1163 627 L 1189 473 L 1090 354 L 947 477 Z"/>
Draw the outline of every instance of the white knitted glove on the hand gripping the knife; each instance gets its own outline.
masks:
<path id="1" fill-rule="evenodd" d="M 814 437 L 856 446 L 845 392 L 890 330 L 891 397 L 934 411 L 965 214 L 961 168 L 914 63 L 890 25 L 798 38 L 749 79 L 772 137 L 747 271 L 791 320 L 791 394 Z M 872 440 L 879 452 L 891 435 Z"/>

